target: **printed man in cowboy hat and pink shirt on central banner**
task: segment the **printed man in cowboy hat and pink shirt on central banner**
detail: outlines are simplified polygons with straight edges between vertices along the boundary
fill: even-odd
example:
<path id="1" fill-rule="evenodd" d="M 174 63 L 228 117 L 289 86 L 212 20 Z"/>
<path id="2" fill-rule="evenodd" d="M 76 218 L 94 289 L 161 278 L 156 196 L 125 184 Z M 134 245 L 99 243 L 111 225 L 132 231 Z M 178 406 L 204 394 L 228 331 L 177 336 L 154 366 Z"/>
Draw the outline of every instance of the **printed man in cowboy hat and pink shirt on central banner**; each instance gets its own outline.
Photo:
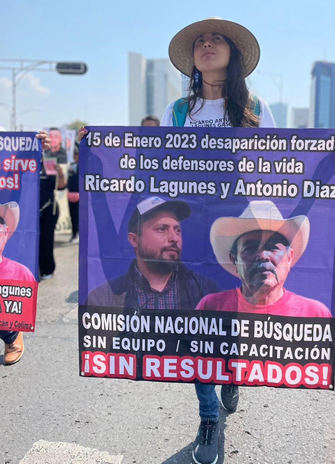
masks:
<path id="1" fill-rule="evenodd" d="M 307 216 L 283 219 L 269 200 L 251 201 L 238 217 L 213 222 L 210 241 L 218 263 L 242 286 L 205 296 L 196 309 L 278 316 L 331 317 L 326 306 L 284 288 L 306 249 Z"/>

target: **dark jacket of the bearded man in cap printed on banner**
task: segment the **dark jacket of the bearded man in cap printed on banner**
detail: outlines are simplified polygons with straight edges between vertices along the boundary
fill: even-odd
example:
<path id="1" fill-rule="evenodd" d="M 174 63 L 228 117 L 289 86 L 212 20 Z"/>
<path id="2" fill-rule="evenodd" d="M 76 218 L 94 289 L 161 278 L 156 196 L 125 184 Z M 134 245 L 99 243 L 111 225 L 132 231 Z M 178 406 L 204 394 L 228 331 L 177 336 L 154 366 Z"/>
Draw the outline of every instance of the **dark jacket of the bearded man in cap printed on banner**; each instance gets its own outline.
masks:
<path id="1" fill-rule="evenodd" d="M 108 280 L 92 290 L 86 303 L 94 306 L 136 309 L 134 267 L 135 260 L 130 264 L 126 274 Z M 192 271 L 183 263 L 178 265 L 177 278 L 180 284 L 182 309 L 195 309 L 201 298 L 209 293 L 222 291 L 215 280 Z"/>

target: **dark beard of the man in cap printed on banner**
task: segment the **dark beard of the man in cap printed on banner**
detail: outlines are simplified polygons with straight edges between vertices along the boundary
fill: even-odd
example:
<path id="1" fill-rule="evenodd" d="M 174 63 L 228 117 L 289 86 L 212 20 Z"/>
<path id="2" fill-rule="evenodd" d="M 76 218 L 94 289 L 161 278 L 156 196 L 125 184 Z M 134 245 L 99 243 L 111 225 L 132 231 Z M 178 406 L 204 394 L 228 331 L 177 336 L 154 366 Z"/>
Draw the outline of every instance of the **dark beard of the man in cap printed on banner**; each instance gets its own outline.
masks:
<path id="1" fill-rule="evenodd" d="M 165 258 L 165 251 L 175 251 L 175 258 Z M 180 263 L 180 248 L 177 245 L 163 247 L 159 253 L 146 250 L 140 244 L 137 250 L 137 259 L 145 262 L 151 272 L 155 272 L 161 276 L 170 274 Z"/>

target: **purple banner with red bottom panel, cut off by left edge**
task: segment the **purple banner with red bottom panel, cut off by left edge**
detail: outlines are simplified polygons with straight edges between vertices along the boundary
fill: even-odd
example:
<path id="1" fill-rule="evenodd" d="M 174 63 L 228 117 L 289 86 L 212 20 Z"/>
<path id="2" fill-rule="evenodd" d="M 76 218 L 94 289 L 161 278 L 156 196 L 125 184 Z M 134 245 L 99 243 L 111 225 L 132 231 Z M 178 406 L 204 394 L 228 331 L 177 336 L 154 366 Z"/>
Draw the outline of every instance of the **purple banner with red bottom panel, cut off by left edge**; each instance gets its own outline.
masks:
<path id="1" fill-rule="evenodd" d="M 39 171 L 35 132 L 0 133 L 0 330 L 33 332 L 39 280 Z M 3 334 L 2 334 L 3 335 Z"/>

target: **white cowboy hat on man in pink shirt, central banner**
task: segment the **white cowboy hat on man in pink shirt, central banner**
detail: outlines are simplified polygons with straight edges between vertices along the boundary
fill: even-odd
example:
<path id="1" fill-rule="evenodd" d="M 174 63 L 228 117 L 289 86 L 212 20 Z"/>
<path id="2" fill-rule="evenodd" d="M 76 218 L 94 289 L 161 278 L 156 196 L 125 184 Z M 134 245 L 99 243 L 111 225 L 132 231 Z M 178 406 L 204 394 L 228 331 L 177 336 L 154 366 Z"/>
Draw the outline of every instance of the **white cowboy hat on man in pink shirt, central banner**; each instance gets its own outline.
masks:
<path id="1" fill-rule="evenodd" d="M 277 206 L 269 200 L 251 201 L 238 218 L 216 219 L 210 232 L 214 255 L 218 263 L 234 276 L 236 276 L 236 269 L 229 259 L 232 245 L 238 237 L 254 230 L 278 232 L 287 238 L 294 250 L 293 266 L 306 249 L 309 238 L 309 220 L 307 216 L 283 219 Z"/>

